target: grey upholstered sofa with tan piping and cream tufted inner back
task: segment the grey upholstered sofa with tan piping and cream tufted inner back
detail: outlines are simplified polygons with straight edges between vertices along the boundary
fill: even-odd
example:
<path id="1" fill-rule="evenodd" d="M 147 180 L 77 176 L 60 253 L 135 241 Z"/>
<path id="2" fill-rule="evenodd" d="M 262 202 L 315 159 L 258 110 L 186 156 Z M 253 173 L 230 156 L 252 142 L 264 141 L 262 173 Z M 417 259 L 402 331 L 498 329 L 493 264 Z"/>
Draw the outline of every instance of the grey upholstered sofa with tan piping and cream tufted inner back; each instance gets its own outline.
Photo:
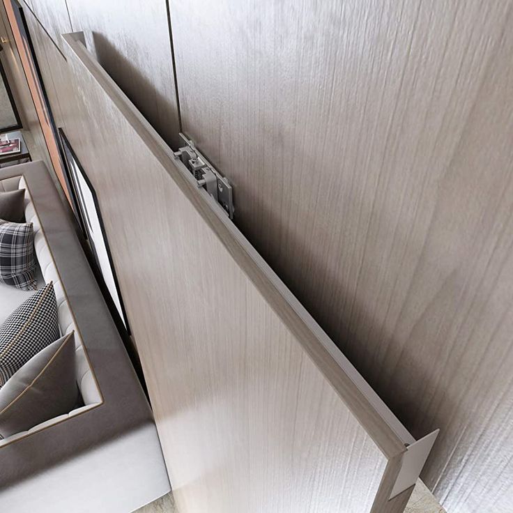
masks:
<path id="1" fill-rule="evenodd" d="M 40 284 L 54 282 L 61 332 L 75 330 L 84 405 L 0 441 L 0 512 L 130 512 L 169 491 L 151 409 L 45 164 L 0 171 L 0 190 L 16 188 Z M 24 300 L 5 287 L 3 319 Z"/>

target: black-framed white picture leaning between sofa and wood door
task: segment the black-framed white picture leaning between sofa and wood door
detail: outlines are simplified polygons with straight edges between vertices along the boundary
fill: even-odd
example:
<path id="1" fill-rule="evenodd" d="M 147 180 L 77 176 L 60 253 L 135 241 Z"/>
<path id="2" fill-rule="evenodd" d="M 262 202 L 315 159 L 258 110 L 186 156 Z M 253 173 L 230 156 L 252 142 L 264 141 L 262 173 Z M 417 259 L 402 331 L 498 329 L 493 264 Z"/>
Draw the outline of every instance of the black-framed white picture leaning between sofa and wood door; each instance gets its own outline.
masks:
<path id="1" fill-rule="evenodd" d="M 70 183 L 72 195 L 72 209 L 82 228 L 86 243 L 91 250 L 93 267 L 96 267 L 103 284 L 105 284 L 105 289 L 107 289 L 110 300 L 114 304 L 118 318 L 121 319 L 126 331 L 130 334 L 125 307 L 121 300 L 114 263 L 112 262 L 107 237 L 105 236 L 105 227 L 102 222 L 95 190 L 61 128 L 59 128 L 59 135 L 68 167 L 68 183 Z"/>

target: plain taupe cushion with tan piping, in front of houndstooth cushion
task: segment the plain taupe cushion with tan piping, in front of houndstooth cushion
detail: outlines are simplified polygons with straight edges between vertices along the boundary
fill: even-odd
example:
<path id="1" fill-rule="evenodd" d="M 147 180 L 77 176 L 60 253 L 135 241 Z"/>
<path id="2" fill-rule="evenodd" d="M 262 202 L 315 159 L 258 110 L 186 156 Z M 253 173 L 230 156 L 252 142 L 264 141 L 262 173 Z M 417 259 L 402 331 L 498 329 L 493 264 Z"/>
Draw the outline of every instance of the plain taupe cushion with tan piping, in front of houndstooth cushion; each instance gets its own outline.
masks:
<path id="1" fill-rule="evenodd" d="M 69 413 L 77 399 L 71 332 L 34 355 L 0 389 L 0 436 Z"/>

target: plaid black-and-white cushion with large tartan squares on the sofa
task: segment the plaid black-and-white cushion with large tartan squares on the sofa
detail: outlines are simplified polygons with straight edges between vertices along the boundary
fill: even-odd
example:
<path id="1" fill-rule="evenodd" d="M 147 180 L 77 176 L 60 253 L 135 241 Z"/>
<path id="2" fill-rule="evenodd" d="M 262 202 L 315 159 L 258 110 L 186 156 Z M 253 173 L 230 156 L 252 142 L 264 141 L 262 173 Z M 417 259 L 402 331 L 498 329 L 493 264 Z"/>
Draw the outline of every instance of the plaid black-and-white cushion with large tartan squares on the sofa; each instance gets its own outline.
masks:
<path id="1" fill-rule="evenodd" d="M 35 269 L 32 223 L 0 219 L 0 282 L 35 291 Z"/>

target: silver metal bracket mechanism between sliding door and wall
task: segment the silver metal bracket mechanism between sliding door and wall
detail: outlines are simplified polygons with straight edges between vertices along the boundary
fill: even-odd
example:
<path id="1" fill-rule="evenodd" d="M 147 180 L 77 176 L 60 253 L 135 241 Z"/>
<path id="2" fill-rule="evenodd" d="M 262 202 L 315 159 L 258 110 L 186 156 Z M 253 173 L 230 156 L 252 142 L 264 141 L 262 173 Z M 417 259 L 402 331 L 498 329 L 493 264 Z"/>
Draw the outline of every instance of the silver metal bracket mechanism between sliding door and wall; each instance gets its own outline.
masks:
<path id="1" fill-rule="evenodd" d="M 198 187 L 204 187 L 206 192 L 217 201 L 224 211 L 233 219 L 233 189 L 228 178 L 222 176 L 206 158 L 194 147 L 190 139 L 180 134 L 186 146 L 174 152 L 187 171 L 194 176 Z"/>

